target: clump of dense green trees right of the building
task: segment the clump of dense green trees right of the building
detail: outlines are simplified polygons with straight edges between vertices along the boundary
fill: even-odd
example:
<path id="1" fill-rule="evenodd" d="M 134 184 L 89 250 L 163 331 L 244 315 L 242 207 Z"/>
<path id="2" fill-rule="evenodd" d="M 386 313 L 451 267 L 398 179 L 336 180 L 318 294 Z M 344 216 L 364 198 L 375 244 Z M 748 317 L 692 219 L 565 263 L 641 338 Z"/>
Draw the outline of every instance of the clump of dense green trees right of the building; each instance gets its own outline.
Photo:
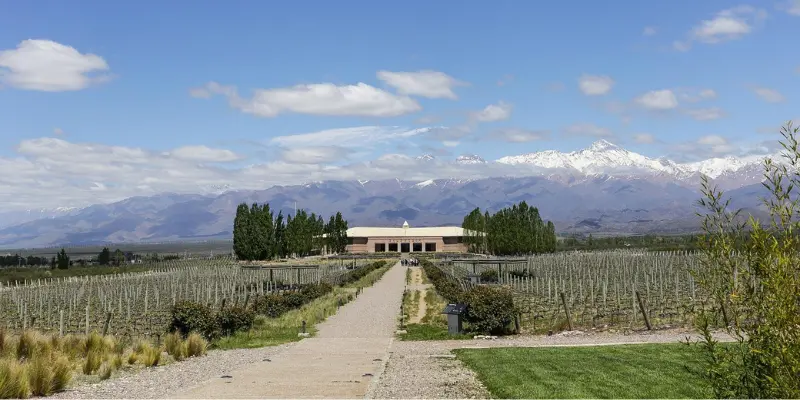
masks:
<path id="1" fill-rule="evenodd" d="M 461 227 L 472 253 L 505 256 L 556 251 L 555 226 L 524 201 L 494 214 L 476 208 L 464 217 Z"/>

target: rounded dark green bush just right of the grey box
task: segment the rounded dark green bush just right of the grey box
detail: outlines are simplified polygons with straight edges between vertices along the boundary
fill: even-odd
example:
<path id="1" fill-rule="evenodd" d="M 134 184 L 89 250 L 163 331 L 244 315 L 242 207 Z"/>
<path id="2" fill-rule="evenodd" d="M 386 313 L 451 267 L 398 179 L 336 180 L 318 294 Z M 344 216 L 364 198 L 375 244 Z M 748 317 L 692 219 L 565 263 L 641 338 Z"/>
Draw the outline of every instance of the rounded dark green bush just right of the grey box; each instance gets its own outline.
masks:
<path id="1" fill-rule="evenodd" d="M 475 286 L 466 293 L 466 321 L 480 333 L 504 334 L 516 311 L 510 288 Z"/>

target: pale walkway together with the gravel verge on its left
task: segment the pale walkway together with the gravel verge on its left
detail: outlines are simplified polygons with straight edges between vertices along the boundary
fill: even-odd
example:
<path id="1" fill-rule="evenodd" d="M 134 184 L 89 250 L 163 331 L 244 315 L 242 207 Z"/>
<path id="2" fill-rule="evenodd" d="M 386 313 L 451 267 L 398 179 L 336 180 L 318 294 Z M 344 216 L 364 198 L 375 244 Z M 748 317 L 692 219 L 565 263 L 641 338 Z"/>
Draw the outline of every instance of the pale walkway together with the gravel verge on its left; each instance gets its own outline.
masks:
<path id="1" fill-rule="evenodd" d="M 123 372 L 120 376 L 95 384 L 80 384 L 73 389 L 60 392 L 52 396 L 56 399 L 99 399 L 99 398 L 129 398 L 152 399 L 181 397 L 187 394 L 187 389 L 200 390 L 199 395 L 190 397 L 315 397 L 314 393 L 299 393 L 292 391 L 292 385 L 306 385 L 313 391 L 324 390 L 319 385 L 309 385 L 302 381 L 321 381 L 328 373 L 348 373 L 348 367 L 357 368 L 349 375 L 357 375 L 359 390 L 366 392 L 370 378 L 362 377 L 364 373 L 371 372 L 377 376 L 382 369 L 384 360 L 387 359 L 387 350 L 393 340 L 397 326 L 397 315 L 402 300 L 403 284 L 405 281 L 405 268 L 398 265 L 386 272 L 384 277 L 375 285 L 365 288 L 361 295 L 354 301 L 342 307 L 336 315 L 317 325 L 318 334 L 314 338 L 304 339 L 300 342 L 288 343 L 274 347 L 259 349 L 240 349 L 227 351 L 210 351 L 205 357 L 185 360 L 182 362 L 164 365 L 152 369 Z M 351 362 L 352 358 L 361 358 L 366 362 Z M 372 354 L 375 353 L 375 354 Z M 344 355 L 344 356 L 343 356 Z M 378 360 L 378 361 L 375 361 Z M 364 360 L 362 360 L 364 361 Z M 268 373 L 272 375 L 276 366 L 291 367 L 303 363 L 298 369 L 286 369 L 283 377 L 288 379 L 289 385 L 280 387 L 279 382 L 274 382 L 275 376 L 261 376 L 260 382 L 269 382 L 279 386 L 274 393 L 263 393 L 264 387 L 257 387 L 245 395 L 232 393 L 228 389 L 247 388 L 251 381 L 241 384 L 239 381 L 248 375 Z M 316 364 L 316 365 L 315 365 Z M 348 365 L 349 364 L 349 365 Z M 324 371 L 315 371 L 321 365 Z M 362 371 L 363 370 L 363 371 Z M 280 374 L 279 374 L 280 375 Z M 233 376 L 233 379 L 221 379 L 222 376 Z M 337 378 L 330 379 L 336 381 Z M 338 379 L 338 381 L 353 380 Z M 222 386 L 219 383 L 222 382 Z M 239 383 L 238 385 L 225 384 Z M 222 387 L 219 392 L 208 391 L 203 394 L 203 386 Z M 351 386 L 351 385 L 347 385 Z M 345 389 L 352 389 L 346 387 Z M 281 392 L 280 390 L 285 390 Z M 189 392 L 188 394 L 198 393 Z M 324 391 L 322 393 L 325 393 Z M 335 394 L 335 391 L 331 393 Z M 332 397 L 332 396 L 326 396 Z M 335 396 L 334 396 L 335 397 Z M 343 397 L 363 397 L 343 396 Z"/>

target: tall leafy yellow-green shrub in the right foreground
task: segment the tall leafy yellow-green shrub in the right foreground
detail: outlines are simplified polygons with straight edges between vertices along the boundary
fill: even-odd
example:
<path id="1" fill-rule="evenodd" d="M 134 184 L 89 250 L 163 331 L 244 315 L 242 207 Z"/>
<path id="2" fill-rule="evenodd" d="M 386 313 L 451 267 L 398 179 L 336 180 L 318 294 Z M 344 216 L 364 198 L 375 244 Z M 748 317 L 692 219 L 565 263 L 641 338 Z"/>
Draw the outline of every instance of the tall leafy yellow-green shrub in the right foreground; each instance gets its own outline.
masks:
<path id="1" fill-rule="evenodd" d="M 781 134 L 786 163 L 764 161 L 767 222 L 729 210 L 731 199 L 702 178 L 702 263 L 693 274 L 712 302 L 697 319 L 717 397 L 800 398 L 800 143 L 791 122 Z M 713 339 L 720 323 L 736 345 Z"/>

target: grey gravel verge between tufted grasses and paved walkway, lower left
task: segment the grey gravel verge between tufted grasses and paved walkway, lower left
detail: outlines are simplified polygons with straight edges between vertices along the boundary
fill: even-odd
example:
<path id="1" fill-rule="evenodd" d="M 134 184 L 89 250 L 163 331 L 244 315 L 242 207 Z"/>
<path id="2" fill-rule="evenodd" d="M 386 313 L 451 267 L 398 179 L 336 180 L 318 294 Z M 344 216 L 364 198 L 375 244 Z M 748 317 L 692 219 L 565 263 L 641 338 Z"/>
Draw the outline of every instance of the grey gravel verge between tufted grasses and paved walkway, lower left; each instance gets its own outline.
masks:
<path id="1" fill-rule="evenodd" d="M 159 399 L 187 386 L 228 375 L 232 371 L 276 356 L 295 343 L 260 349 L 214 350 L 205 357 L 189 359 L 152 369 L 123 372 L 95 384 L 78 385 L 56 393 L 56 399 Z"/>

